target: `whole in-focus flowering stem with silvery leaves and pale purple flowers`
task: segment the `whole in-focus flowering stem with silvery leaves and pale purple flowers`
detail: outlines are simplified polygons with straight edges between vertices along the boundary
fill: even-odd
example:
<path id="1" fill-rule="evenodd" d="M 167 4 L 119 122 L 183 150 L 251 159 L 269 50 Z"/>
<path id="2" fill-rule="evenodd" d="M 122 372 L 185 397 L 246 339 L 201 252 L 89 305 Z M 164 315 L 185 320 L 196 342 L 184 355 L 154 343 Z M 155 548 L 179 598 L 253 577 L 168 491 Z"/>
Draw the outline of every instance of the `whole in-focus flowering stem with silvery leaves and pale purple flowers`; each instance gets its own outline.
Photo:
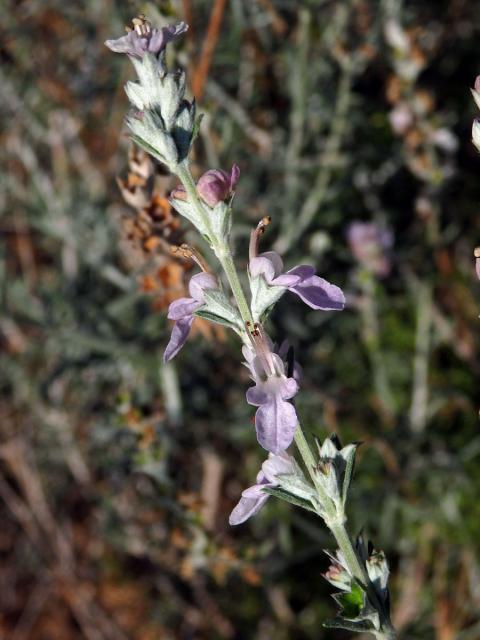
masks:
<path id="1" fill-rule="evenodd" d="M 267 217 L 251 232 L 247 299 L 230 248 L 232 201 L 240 170 L 236 165 L 230 173 L 210 170 L 195 183 L 189 152 L 200 119 L 195 102 L 185 98 L 185 74 L 170 71 L 166 64 L 165 47 L 186 29 L 184 23 L 155 29 L 140 16 L 126 36 L 106 42 L 113 51 L 129 56 L 138 75 L 138 82 L 125 87 L 132 104 L 126 121 L 132 139 L 179 178 L 181 184 L 172 192 L 171 204 L 205 238 L 229 285 L 227 289 L 221 275 L 213 273 L 195 248 L 173 247 L 174 252 L 180 250 L 192 259 L 200 272 L 191 278 L 190 296 L 170 305 L 168 317 L 175 324 L 164 358 L 171 360 L 180 351 L 195 317 L 222 324 L 239 336 L 254 383 L 246 398 L 257 407 L 257 439 L 268 458 L 255 484 L 243 492 L 233 509 L 230 523 L 245 522 L 269 496 L 316 513 L 339 547 L 331 555 L 332 565 L 325 577 L 339 589 L 334 597 L 340 611 L 327 624 L 370 632 L 377 638 L 395 638 L 385 557 L 361 538 L 353 543 L 345 527 L 357 445 L 342 447 L 331 436 L 323 444 L 317 441 L 318 451 L 313 453 L 293 404 L 299 391 L 293 352 L 287 345 L 277 348 L 265 329 L 270 310 L 286 291 L 320 311 L 341 311 L 344 295 L 339 287 L 317 276 L 312 266 L 299 265 L 284 272 L 277 253 L 259 253 L 260 238 L 270 222 Z M 294 441 L 301 463 L 287 452 Z"/>

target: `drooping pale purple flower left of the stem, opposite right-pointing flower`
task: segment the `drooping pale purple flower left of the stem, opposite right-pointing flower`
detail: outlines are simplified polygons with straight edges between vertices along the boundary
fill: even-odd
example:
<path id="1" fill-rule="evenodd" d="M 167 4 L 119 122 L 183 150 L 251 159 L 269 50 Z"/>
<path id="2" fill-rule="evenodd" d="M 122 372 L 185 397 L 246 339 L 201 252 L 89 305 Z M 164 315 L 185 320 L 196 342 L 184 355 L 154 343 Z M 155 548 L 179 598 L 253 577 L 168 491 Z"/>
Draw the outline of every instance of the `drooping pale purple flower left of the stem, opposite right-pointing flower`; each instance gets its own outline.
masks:
<path id="1" fill-rule="evenodd" d="M 190 298 L 174 300 L 168 308 L 168 318 L 175 320 L 172 335 L 163 354 L 164 362 L 174 358 L 185 344 L 194 319 L 194 313 L 205 302 L 204 290 L 217 289 L 218 283 L 210 273 L 197 273 L 188 285 Z"/>

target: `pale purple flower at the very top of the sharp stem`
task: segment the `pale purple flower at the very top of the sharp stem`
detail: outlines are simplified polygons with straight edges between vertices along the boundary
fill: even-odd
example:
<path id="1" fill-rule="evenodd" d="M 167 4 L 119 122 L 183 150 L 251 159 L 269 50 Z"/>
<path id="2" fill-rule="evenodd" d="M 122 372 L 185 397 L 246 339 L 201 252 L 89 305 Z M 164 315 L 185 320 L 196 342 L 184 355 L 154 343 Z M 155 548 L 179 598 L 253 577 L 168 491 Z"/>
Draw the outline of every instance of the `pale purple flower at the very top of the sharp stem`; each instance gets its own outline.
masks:
<path id="1" fill-rule="evenodd" d="M 167 44 L 181 36 L 188 29 L 185 22 L 169 25 L 162 29 L 152 29 L 146 20 L 136 18 L 137 24 L 126 36 L 116 40 L 107 40 L 105 44 L 116 53 L 126 53 L 133 58 L 142 59 L 145 53 L 153 53 L 157 58 Z M 135 21 L 134 21 L 135 23 Z"/>

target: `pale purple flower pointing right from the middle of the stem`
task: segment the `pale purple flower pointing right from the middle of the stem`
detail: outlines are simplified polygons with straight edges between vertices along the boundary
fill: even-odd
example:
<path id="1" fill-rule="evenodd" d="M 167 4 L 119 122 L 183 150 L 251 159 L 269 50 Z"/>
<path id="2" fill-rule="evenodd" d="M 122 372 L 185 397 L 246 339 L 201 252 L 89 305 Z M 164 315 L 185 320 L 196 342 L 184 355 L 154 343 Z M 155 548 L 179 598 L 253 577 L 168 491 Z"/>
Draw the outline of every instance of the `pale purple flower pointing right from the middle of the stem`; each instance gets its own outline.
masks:
<path id="1" fill-rule="evenodd" d="M 275 251 L 252 257 L 249 269 L 251 278 L 263 276 L 268 285 L 285 287 L 312 309 L 341 311 L 345 306 L 342 290 L 317 276 L 313 267 L 303 264 L 282 273 L 283 262 Z"/>

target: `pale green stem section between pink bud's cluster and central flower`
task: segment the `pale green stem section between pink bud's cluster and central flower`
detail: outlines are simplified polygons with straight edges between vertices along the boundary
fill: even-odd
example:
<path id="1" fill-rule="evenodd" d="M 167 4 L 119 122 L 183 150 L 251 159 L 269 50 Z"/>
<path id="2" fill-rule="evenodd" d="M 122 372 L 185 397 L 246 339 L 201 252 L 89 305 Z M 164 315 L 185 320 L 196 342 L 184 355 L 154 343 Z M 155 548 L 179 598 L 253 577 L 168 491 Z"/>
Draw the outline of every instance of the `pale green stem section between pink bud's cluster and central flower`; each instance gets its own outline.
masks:
<path id="1" fill-rule="evenodd" d="M 242 285 L 240 283 L 240 279 L 237 274 L 237 270 L 235 268 L 235 263 L 233 262 L 232 253 L 230 251 L 230 247 L 224 241 L 219 241 L 216 237 L 210 220 L 208 218 L 208 214 L 205 211 L 205 207 L 203 206 L 200 198 L 198 197 L 197 187 L 195 185 L 195 181 L 193 179 L 192 174 L 190 173 L 190 169 L 188 166 L 184 164 L 180 164 L 177 167 L 177 176 L 183 183 L 185 190 L 188 195 L 189 202 L 195 207 L 197 213 L 201 217 L 205 228 L 207 229 L 208 237 L 212 245 L 212 249 L 215 252 L 215 255 L 218 258 L 218 261 L 222 265 L 222 268 L 227 276 L 228 283 L 233 293 L 233 297 L 238 306 L 238 310 L 240 311 L 240 315 L 242 316 L 242 320 L 244 323 L 250 322 L 253 324 L 252 314 L 250 313 L 250 307 L 248 305 L 247 299 L 245 298 L 245 294 L 243 293 Z"/>

